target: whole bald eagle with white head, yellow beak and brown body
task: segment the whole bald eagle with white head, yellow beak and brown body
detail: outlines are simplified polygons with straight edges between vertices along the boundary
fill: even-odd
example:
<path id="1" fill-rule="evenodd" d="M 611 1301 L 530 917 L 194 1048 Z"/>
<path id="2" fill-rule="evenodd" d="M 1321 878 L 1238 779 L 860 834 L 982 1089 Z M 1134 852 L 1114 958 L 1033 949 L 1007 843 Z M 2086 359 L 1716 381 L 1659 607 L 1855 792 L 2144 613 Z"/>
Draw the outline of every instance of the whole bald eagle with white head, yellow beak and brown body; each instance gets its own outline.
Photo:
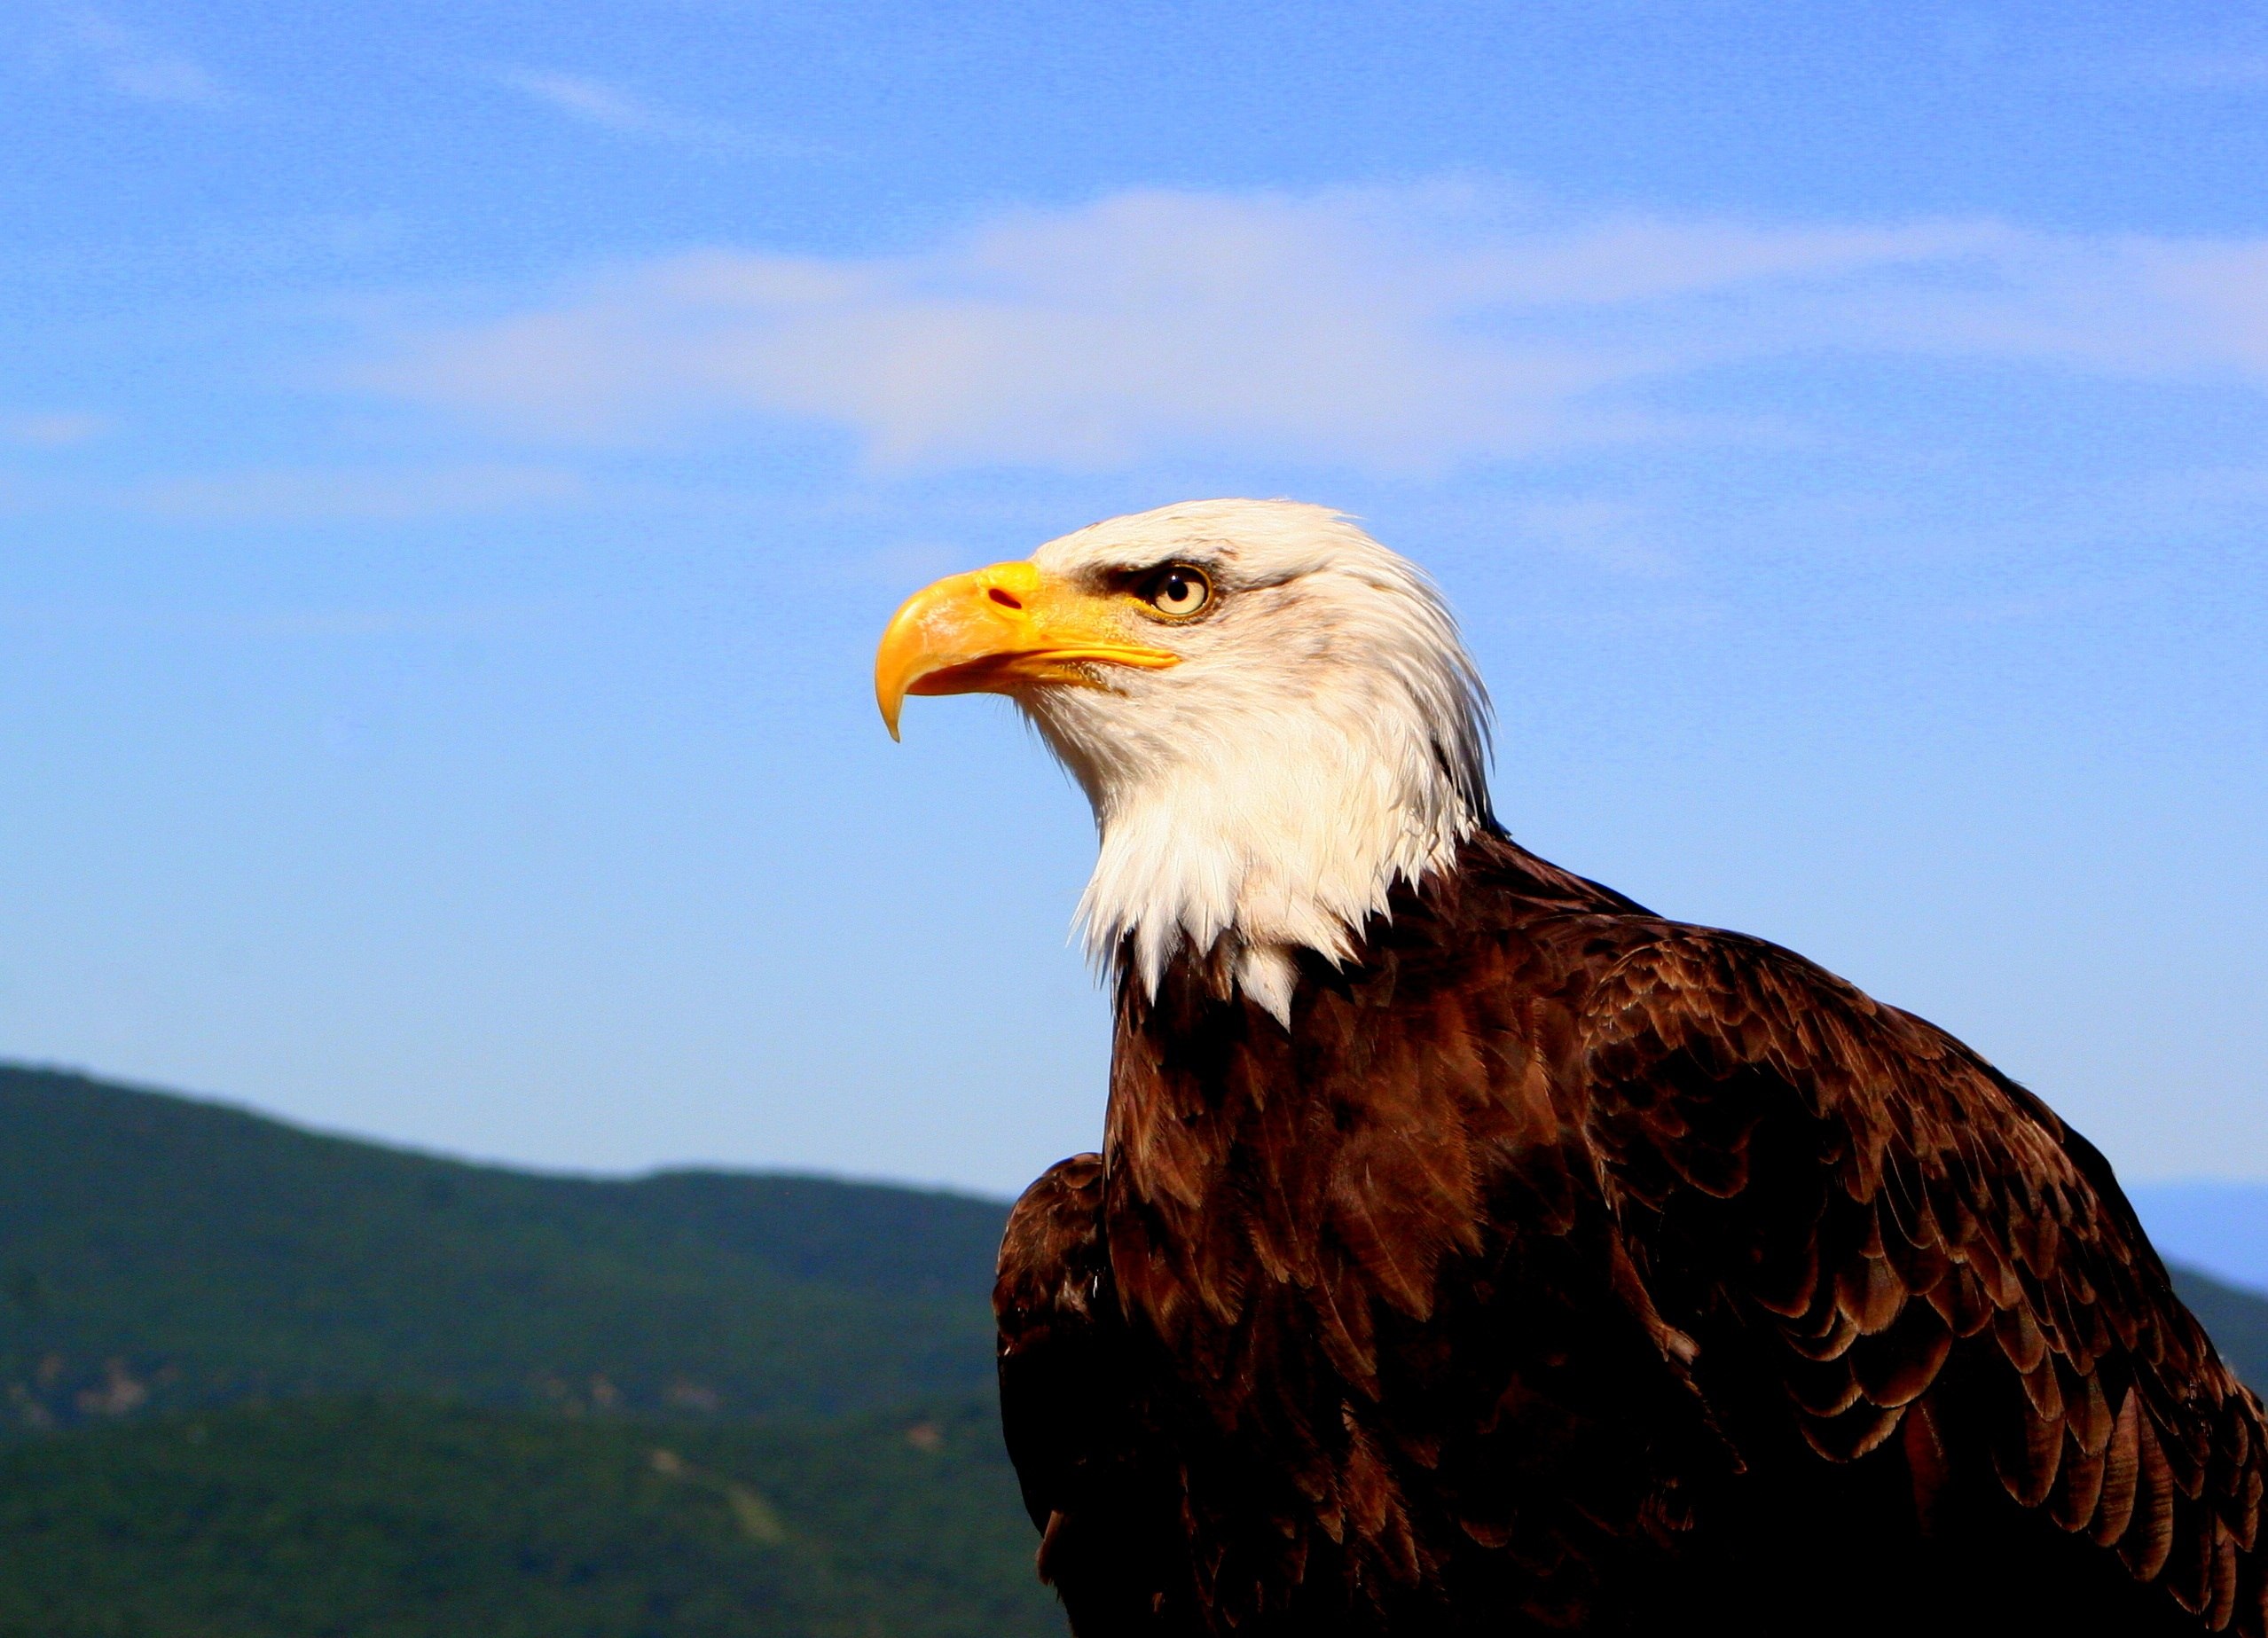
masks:
<path id="1" fill-rule="evenodd" d="M 1427 576 L 1202 501 L 912 597 L 1095 810 L 1100 1155 L 1000 1248 L 1080 1638 L 2263 1631 L 2268 1429 L 2109 1164 L 1921 1019 L 1520 848 Z"/>

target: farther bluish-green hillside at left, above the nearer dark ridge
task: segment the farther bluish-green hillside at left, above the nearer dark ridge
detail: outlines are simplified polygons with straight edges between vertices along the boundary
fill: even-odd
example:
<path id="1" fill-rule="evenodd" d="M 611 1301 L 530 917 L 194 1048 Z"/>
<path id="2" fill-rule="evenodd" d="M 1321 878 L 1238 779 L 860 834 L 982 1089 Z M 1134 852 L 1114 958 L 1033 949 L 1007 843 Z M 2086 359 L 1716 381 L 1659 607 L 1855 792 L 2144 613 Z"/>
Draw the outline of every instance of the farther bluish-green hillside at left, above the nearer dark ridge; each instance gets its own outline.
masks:
<path id="1" fill-rule="evenodd" d="M 839 1413 L 991 1382 L 1005 1207 L 542 1177 L 0 1069 L 0 1425 L 247 1395 Z"/>

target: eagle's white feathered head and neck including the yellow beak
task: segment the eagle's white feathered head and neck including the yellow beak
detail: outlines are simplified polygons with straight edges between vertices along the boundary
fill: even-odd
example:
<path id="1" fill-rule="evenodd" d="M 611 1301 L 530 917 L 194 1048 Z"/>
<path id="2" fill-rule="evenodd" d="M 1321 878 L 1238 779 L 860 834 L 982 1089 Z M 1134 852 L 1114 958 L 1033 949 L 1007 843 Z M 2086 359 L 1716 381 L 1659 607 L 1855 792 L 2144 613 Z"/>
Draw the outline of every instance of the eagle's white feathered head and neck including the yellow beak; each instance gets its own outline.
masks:
<path id="1" fill-rule="evenodd" d="M 1340 513 L 1186 501 L 1089 524 L 898 608 L 907 694 L 1007 694 L 1095 810 L 1093 957 L 1193 960 L 1290 1021 L 1295 953 L 1354 953 L 1488 810 L 1488 694 L 1427 574 Z"/>

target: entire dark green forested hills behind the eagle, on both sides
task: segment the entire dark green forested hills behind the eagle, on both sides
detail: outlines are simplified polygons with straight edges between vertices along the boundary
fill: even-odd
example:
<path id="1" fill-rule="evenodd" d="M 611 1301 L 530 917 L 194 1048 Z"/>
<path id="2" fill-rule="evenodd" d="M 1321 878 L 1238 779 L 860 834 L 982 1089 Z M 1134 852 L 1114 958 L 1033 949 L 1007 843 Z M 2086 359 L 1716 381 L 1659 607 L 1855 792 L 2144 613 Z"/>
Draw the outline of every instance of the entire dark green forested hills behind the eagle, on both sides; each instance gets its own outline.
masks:
<path id="1" fill-rule="evenodd" d="M 0 1638 L 1059 1633 L 991 1404 L 1002 1216 L 0 1066 Z M 2177 1282 L 2268 1382 L 2268 1302 Z"/>

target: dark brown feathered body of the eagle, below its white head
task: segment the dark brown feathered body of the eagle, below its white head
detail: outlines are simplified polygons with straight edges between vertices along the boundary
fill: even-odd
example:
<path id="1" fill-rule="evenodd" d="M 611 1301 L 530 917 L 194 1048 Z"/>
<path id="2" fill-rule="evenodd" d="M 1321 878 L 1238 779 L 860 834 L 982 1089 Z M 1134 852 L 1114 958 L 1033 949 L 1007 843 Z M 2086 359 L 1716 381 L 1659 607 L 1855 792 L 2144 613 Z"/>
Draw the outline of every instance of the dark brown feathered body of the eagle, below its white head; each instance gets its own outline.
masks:
<path id="1" fill-rule="evenodd" d="M 1000 1252 L 1080 1638 L 2263 1633 L 2268 1447 L 1944 1032 L 1476 837 L 1290 1030 L 1120 985 Z"/>

